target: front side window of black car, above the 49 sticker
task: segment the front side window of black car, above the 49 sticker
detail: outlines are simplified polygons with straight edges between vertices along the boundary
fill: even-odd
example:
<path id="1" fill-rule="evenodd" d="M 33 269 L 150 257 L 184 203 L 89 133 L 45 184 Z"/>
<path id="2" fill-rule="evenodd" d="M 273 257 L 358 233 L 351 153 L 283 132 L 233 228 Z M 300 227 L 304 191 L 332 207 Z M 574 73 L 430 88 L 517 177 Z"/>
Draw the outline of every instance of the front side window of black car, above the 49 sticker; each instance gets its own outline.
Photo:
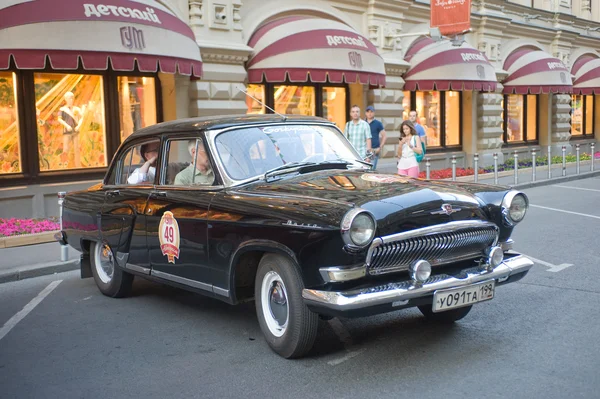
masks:
<path id="1" fill-rule="evenodd" d="M 194 157 L 194 154 L 197 155 Z M 202 139 L 193 138 L 169 142 L 165 183 L 175 186 L 212 186 L 215 184 L 215 174 Z"/>

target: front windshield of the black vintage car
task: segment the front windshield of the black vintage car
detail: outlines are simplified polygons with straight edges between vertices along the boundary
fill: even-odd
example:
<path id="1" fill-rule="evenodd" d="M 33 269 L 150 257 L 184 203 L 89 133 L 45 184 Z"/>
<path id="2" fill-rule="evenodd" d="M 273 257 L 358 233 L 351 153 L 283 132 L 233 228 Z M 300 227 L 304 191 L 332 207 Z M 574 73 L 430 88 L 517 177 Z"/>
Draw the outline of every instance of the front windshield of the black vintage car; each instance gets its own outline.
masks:
<path id="1" fill-rule="evenodd" d="M 361 160 L 333 126 L 276 125 L 230 130 L 215 138 L 217 156 L 234 180 L 246 180 L 295 162 Z"/>

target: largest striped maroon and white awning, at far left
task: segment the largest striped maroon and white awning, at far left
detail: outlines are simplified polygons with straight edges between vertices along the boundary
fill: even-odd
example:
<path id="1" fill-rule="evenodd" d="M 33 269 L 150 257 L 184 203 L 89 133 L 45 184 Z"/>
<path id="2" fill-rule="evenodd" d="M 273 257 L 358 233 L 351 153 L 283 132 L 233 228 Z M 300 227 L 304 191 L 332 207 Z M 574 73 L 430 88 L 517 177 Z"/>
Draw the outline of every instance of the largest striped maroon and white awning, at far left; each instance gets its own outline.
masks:
<path id="1" fill-rule="evenodd" d="M 47 65 L 48 58 L 50 65 Z M 152 0 L 3 0 L 0 70 L 180 73 L 201 76 L 190 27 Z"/>

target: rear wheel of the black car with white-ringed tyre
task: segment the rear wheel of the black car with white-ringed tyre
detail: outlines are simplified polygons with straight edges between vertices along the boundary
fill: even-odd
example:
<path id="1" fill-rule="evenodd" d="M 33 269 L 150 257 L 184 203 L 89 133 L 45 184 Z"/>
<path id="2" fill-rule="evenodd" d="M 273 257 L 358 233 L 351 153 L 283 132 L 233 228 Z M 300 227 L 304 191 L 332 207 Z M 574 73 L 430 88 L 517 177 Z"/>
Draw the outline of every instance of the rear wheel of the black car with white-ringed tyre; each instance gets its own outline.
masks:
<path id="1" fill-rule="evenodd" d="M 113 298 L 129 295 L 133 284 L 133 275 L 117 266 L 110 247 L 94 242 L 90 249 L 92 275 L 100 292 Z"/>

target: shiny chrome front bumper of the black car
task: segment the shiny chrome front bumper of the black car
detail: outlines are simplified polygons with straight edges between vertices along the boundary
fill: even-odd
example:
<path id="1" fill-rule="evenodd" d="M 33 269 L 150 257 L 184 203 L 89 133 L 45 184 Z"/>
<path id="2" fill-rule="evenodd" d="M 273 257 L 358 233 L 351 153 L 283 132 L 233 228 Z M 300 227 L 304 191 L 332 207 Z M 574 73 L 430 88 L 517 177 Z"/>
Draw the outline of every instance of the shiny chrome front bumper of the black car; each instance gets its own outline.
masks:
<path id="1" fill-rule="evenodd" d="M 502 283 L 511 276 L 528 272 L 532 266 L 533 262 L 529 258 L 517 255 L 505 259 L 504 262 L 492 270 L 473 267 L 461 271 L 458 275 L 440 274 L 431 276 L 423 284 L 406 280 L 350 291 L 304 289 L 302 297 L 309 307 L 341 312 L 386 304 L 403 306 L 409 300 L 433 295 L 436 290 L 464 287 L 492 279 L 496 280 L 497 283 Z"/>

